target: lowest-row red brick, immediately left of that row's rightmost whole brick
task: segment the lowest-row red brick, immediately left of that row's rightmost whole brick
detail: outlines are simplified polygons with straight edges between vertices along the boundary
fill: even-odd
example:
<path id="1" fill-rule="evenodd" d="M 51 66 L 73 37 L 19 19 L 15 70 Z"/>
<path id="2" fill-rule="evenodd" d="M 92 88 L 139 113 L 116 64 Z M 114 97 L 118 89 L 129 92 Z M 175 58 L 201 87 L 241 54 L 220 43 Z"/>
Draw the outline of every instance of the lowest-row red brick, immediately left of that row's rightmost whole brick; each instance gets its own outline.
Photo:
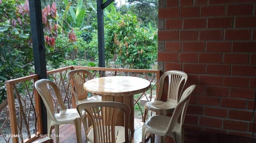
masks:
<path id="1" fill-rule="evenodd" d="M 206 126 L 206 127 L 213 127 L 213 128 L 221 128 L 222 120 L 214 119 L 210 117 L 200 117 L 199 125 Z"/>

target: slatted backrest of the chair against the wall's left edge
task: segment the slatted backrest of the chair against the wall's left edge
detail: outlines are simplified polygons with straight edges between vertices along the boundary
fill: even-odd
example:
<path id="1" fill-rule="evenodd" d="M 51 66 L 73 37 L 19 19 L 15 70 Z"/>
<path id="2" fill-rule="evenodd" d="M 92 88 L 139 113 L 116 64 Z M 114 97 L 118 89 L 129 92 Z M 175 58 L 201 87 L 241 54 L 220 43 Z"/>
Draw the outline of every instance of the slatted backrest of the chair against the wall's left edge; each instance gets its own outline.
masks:
<path id="1" fill-rule="evenodd" d="M 163 90 L 165 89 L 165 80 L 168 80 L 167 84 L 167 102 L 173 102 L 177 104 L 179 102 L 180 95 L 184 86 L 186 85 L 188 75 L 185 72 L 171 70 L 166 71 L 161 75 L 159 80 L 159 90 L 157 92 L 157 100 L 161 100 Z"/>

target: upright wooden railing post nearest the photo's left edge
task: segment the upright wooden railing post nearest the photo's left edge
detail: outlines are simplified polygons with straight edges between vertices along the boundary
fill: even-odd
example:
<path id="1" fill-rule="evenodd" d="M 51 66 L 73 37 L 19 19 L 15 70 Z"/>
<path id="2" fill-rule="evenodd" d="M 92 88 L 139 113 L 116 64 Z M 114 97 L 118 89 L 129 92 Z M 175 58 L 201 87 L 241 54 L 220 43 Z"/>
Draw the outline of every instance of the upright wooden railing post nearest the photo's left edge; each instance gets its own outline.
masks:
<path id="1" fill-rule="evenodd" d="M 6 91 L 7 91 L 7 100 L 8 100 L 8 107 L 10 113 L 10 123 L 11 123 L 11 133 L 13 135 L 12 142 L 18 143 L 18 129 L 17 129 L 17 118 L 16 118 L 16 111 L 15 111 L 15 102 L 14 102 L 14 95 L 13 94 L 13 85 L 10 82 L 6 81 Z"/>

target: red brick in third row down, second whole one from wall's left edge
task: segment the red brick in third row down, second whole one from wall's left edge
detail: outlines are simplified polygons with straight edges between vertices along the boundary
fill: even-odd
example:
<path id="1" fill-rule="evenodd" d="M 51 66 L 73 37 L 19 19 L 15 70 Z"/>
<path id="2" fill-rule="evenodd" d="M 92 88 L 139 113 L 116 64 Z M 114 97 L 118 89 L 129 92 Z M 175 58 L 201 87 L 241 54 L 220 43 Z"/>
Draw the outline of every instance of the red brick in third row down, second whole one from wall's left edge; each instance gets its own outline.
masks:
<path id="1" fill-rule="evenodd" d="M 183 29 L 201 29 L 205 28 L 206 20 L 205 19 L 184 19 L 183 20 Z"/>

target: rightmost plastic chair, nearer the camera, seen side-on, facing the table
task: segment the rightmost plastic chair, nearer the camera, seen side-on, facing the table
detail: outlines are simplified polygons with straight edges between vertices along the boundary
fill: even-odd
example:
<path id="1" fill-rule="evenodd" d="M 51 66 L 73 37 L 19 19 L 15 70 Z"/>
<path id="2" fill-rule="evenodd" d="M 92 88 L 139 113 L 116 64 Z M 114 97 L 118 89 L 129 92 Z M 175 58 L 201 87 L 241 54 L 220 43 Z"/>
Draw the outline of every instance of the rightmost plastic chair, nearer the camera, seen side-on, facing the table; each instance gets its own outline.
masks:
<path id="1" fill-rule="evenodd" d="M 150 142 L 155 141 L 155 134 L 164 137 L 161 138 L 161 142 L 165 142 L 165 136 L 173 138 L 176 143 L 184 142 L 182 125 L 184 123 L 190 94 L 195 88 L 195 85 L 191 85 L 182 93 L 180 102 L 175 107 L 171 117 L 164 115 L 149 117 L 149 119 L 142 125 L 142 143 L 145 142 L 147 133 L 150 133 Z"/>

